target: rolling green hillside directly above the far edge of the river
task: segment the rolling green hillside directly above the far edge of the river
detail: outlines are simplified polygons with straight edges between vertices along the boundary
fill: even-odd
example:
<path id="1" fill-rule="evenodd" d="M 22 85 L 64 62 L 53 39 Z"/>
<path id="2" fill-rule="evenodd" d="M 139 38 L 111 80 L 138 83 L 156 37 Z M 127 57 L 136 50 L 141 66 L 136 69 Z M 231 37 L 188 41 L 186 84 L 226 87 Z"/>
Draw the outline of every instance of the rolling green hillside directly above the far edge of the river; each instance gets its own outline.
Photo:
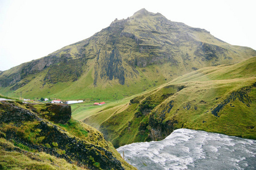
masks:
<path id="1" fill-rule="evenodd" d="M 73 116 L 102 131 L 115 147 L 163 139 L 177 128 L 256 139 L 255 65 L 252 57 L 205 67 L 118 103 L 81 104 Z"/>

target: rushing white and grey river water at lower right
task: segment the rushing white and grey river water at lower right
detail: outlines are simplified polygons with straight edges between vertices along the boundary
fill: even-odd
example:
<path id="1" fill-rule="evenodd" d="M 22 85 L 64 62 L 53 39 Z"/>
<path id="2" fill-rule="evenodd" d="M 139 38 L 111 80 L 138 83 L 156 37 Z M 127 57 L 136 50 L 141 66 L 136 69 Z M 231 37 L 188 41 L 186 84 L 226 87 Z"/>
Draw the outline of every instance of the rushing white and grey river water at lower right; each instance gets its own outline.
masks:
<path id="1" fill-rule="evenodd" d="M 157 142 L 132 143 L 117 148 L 140 169 L 254 169 L 256 141 L 178 129 Z"/>

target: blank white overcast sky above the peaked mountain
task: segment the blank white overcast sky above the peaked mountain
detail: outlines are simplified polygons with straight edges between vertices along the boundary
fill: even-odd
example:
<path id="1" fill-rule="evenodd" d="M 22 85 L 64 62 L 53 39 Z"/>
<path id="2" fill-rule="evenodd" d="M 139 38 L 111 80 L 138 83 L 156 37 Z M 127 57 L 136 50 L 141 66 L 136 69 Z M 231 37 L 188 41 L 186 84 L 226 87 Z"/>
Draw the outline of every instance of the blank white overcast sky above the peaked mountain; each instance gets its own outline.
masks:
<path id="1" fill-rule="evenodd" d="M 141 8 L 256 50 L 255 0 L 0 0 L 0 70 L 87 39 Z"/>

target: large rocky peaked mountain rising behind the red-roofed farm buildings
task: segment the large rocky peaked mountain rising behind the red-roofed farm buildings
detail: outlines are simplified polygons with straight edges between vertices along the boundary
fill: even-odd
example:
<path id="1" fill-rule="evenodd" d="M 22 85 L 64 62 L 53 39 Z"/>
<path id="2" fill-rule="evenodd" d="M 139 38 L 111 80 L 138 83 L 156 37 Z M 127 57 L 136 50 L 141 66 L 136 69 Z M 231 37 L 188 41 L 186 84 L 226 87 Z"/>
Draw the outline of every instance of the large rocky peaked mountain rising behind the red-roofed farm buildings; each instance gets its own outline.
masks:
<path id="1" fill-rule="evenodd" d="M 256 52 L 251 48 L 230 45 L 205 29 L 141 9 L 89 39 L 1 72 L 0 93 L 117 100 L 203 67 L 252 56 Z"/>

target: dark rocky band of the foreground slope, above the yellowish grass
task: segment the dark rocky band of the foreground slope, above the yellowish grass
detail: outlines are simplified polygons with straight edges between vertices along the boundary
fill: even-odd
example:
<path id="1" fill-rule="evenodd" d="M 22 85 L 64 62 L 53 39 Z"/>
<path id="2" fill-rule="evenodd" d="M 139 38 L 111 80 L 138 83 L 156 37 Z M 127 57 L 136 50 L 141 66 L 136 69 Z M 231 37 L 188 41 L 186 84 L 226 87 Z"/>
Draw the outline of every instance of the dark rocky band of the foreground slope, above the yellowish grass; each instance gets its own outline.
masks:
<path id="1" fill-rule="evenodd" d="M 79 167 L 124 169 L 98 131 L 82 130 L 85 136 L 95 140 L 91 143 L 84 137 L 72 135 L 61 128 L 72 124 L 70 118 L 69 105 L 24 105 L 15 101 L 0 103 L 1 137 L 8 141 L 15 142 L 18 146 L 26 146 L 36 152 L 45 152 L 65 159 L 66 162 L 75 163 Z M 69 126 L 70 128 L 72 126 Z"/>

